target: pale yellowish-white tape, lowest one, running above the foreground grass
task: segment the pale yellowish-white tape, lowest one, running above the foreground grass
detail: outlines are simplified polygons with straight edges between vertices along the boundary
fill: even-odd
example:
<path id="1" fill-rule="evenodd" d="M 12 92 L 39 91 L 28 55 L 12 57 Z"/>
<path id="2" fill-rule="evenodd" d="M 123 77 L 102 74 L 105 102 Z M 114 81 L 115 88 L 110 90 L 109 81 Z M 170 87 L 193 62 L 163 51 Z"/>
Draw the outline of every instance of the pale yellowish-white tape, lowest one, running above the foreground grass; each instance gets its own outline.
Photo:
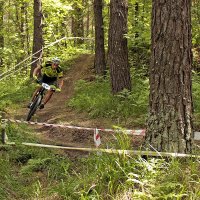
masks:
<path id="1" fill-rule="evenodd" d="M 64 150 L 76 150 L 76 151 L 86 151 L 86 152 L 102 152 L 109 154 L 119 154 L 119 155 L 137 155 L 137 156 L 155 156 L 155 157 L 179 157 L 179 158 L 198 158 L 199 155 L 193 154 L 182 154 L 182 153 L 169 153 L 169 152 L 157 152 L 157 151 L 136 151 L 136 150 L 118 150 L 118 149 L 99 149 L 99 148 L 77 148 L 77 147 L 65 147 L 47 144 L 37 144 L 37 143 L 26 143 L 16 144 L 15 142 L 8 142 L 6 145 L 25 145 L 32 147 L 43 147 L 43 148 L 54 148 L 54 149 L 64 149 Z"/>

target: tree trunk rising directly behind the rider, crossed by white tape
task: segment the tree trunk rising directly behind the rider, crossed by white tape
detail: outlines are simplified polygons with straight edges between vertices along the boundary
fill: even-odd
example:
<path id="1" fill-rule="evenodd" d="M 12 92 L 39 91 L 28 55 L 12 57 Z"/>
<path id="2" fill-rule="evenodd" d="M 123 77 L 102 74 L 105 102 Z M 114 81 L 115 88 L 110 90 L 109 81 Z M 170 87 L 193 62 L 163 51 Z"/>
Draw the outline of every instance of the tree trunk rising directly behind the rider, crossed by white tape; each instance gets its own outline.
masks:
<path id="1" fill-rule="evenodd" d="M 33 58 L 32 62 L 42 57 L 42 3 L 41 0 L 34 0 L 34 32 L 33 32 Z M 37 52 L 37 53 L 36 53 Z M 33 70 L 37 67 L 39 60 L 32 63 L 30 76 L 33 75 Z"/>

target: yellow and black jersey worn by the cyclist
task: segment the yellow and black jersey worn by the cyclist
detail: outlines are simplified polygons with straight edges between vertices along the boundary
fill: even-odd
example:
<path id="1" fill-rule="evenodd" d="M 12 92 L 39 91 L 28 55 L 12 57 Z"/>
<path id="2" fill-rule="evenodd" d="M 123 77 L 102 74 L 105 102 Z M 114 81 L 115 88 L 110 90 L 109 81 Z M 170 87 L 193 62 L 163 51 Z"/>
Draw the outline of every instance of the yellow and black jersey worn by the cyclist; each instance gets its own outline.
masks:
<path id="1" fill-rule="evenodd" d="M 42 66 L 42 74 L 48 76 L 49 78 L 62 78 L 63 70 L 60 66 L 56 69 L 53 69 L 51 63 L 46 63 Z"/>

